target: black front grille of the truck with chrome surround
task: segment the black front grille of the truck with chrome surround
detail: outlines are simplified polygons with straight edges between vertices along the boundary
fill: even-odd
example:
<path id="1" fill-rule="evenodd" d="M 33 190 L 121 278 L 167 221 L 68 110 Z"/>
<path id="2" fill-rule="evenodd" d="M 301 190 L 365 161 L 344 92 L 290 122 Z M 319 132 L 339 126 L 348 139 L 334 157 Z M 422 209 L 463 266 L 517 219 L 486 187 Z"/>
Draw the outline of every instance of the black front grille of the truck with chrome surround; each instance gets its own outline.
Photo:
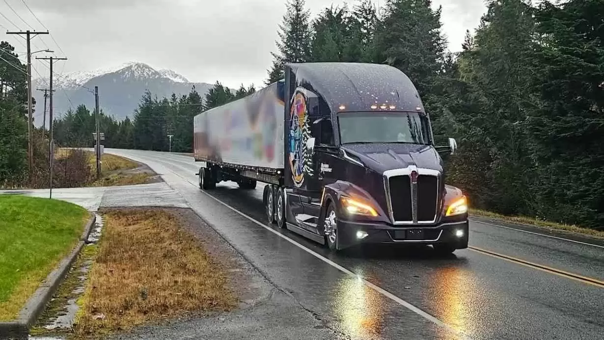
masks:
<path id="1" fill-rule="evenodd" d="M 395 222 L 413 222 L 413 194 L 408 175 L 388 179 L 390 206 Z M 432 222 L 437 214 L 439 178 L 432 175 L 417 176 L 417 221 Z"/>

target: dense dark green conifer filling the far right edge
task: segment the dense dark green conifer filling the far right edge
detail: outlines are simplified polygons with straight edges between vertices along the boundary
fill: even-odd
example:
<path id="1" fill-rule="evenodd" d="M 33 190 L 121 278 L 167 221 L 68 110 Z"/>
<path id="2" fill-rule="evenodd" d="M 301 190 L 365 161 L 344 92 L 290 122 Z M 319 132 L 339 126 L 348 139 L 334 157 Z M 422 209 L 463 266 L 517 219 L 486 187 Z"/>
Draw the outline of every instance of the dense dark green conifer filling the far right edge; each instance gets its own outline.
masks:
<path id="1" fill-rule="evenodd" d="M 527 120 L 536 213 L 596 228 L 604 225 L 602 13 L 601 0 L 539 7 L 532 83 L 540 101 Z"/>

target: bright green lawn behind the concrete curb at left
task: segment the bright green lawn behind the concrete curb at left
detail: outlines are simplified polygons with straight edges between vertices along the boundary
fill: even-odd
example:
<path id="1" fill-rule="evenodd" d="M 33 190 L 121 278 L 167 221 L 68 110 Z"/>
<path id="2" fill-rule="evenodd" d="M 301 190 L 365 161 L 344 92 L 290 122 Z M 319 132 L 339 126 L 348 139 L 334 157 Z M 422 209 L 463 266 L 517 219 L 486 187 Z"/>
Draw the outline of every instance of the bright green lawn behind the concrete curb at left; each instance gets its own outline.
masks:
<path id="1" fill-rule="evenodd" d="M 89 214 L 61 200 L 0 195 L 0 321 L 19 310 L 77 244 Z"/>

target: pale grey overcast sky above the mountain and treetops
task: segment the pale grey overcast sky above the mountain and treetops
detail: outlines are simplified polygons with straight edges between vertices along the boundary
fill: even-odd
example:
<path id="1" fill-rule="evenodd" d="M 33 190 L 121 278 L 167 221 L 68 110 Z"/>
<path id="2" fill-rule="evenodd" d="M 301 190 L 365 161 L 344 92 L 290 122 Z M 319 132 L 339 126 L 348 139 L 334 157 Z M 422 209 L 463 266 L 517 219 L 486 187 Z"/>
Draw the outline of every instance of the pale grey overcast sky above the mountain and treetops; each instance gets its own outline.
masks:
<path id="1" fill-rule="evenodd" d="M 236 87 L 241 83 L 263 85 L 275 50 L 277 25 L 285 12 L 284 0 L 6 0 L 0 2 L 1 30 L 50 30 L 65 52 L 49 36 L 33 40 L 33 49 L 50 47 L 56 56 L 56 72 L 88 71 L 144 62 L 156 69 L 168 68 L 194 82 Z M 355 4 L 356 0 L 347 1 Z M 376 4 L 385 0 L 375 1 Z M 27 4 L 43 26 L 25 7 Z M 306 0 L 313 14 L 341 0 Z M 451 50 L 460 50 L 467 28 L 478 26 L 483 0 L 432 0 L 443 6 L 443 33 Z M 14 25 L 13 25 L 14 24 Z M 16 36 L 5 36 L 25 51 Z M 24 41 L 21 39 L 21 41 Z M 43 53 L 36 54 L 42 56 Z M 34 68 L 48 75 L 39 60 Z M 34 71 L 34 77 L 36 77 Z"/>

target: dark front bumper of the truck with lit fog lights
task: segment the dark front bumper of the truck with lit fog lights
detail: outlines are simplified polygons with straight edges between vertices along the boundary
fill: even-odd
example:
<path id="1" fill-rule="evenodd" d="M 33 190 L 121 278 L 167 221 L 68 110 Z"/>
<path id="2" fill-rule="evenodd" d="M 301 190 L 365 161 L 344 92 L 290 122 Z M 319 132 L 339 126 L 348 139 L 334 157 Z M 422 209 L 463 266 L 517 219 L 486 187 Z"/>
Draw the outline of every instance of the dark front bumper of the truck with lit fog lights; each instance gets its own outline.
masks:
<path id="1" fill-rule="evenodd" d="M 365 243 L 433 245 L 449 243 L 455 249 L 467 248 L 468 220 L 431 226 L 393 226 L 373 223 L 338 221 L 338 249 Z"/>

